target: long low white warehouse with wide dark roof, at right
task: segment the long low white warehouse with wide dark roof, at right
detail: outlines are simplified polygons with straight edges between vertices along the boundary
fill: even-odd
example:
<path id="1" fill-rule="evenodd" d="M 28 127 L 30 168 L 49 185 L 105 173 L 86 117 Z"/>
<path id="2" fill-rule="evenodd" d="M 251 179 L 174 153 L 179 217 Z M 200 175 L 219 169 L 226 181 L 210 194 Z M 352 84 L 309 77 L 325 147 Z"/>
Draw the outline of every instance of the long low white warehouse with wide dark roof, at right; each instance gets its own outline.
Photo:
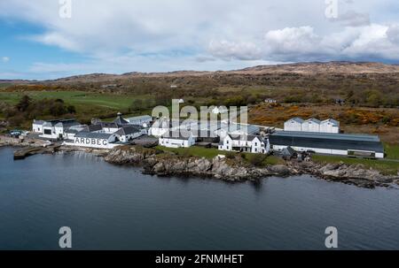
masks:
<path id="1" fill-rule="evenodd" d="M 384 158 L 379 136 L 364 134 L 328 134 L 280 131 L 270 134 L 271 149 L 281 152 L 287 147 L 318 154 Z"/>

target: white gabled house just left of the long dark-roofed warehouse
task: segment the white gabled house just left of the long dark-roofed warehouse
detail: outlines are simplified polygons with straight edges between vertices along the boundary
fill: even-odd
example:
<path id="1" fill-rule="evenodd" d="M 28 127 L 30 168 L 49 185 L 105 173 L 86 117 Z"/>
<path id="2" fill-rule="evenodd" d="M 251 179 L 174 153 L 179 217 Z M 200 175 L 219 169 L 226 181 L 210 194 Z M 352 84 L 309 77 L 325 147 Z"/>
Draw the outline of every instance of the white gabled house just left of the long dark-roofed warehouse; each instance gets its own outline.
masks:
<path id="1" fill-rule="evenodd" d="M 254 154 L 268 154 L 270 152 L 269 139 L 257 135 L 228 134 L 219 143 L 220 150 L 250 152 Z"/>

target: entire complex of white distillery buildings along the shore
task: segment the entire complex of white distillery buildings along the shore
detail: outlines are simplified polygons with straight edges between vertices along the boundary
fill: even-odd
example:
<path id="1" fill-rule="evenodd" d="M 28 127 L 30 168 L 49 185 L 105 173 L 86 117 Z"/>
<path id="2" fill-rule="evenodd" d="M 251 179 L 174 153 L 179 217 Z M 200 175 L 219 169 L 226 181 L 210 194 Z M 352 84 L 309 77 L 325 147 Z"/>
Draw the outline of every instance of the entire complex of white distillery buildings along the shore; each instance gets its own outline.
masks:
<path id="1" fill-rule="evenodd" d="M 220 111 L 220 110 L 219 110 Z M 261 134 L 260 126 L 225 121 L 156 119 L 151 116 L 122 118 L 113 122 L 82 125 L 75 119 L 34 120 L 33 131 L 40 137 L 62 140 L 70 146 L 112 149 L 140 136 L 151 135 L 161 146 L 189 148 L 195 144 L 217 147 L 221 151 L 269 154 L 286 149 L 328 155 L 383 158 L 378 136 L 340 134 L 340 122 L 334 119 L 287 120 L 284 131 Z"/>

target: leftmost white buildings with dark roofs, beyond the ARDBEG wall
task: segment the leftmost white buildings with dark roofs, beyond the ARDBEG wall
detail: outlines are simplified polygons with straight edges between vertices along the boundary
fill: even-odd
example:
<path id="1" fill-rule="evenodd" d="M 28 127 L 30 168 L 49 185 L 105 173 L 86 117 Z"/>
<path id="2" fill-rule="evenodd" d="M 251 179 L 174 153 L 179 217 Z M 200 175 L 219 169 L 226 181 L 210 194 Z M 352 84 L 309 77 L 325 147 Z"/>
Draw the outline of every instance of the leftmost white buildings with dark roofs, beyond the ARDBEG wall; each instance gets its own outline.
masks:
<path id="1" fill-rule="evenodd" d="M 42 138 L 61 140 L 66 138 L 66 130 L 71 126 L 81 126 L 81 124 L 76 119 L 34 120 L 32 130 Z"/>

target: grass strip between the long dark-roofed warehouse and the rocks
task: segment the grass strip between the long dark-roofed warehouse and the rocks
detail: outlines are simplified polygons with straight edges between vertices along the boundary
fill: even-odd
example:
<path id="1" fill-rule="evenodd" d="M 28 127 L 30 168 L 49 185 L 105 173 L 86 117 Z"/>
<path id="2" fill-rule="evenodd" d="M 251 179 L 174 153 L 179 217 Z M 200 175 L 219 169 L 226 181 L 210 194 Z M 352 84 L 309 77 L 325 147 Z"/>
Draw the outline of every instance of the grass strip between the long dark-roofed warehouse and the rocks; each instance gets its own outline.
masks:
<path id="1" fill-rule="evenodd" d="M 367 168 L 373 168 L 386 175 L 395 175 L 399 172 L 399 162 L 389 160 L 372 160 L 363 158 L 349 158 L 349 157 L 336 157 L 336 156 L 312 156 L 313 161 L 318 163 L 340 163 L 346 165 L 364 165 Z"/>

